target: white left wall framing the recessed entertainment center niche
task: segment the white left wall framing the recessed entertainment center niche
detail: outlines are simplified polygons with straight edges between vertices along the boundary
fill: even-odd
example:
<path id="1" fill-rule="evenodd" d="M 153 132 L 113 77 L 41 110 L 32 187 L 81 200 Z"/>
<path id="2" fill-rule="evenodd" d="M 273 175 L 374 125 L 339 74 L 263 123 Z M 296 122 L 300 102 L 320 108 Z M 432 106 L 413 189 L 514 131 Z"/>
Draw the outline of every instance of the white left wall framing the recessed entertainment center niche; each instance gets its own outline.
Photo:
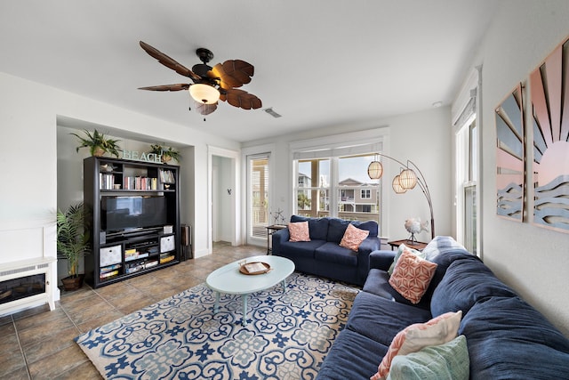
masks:
<path id="1" fill-rule="evenodd" d="M 73 93 L 67 93 L 46 85 L 40 85 L 19 77 L 0 73 L 0 125 L 4 141 L 0 166 L 3 167 L 5 185 L 0 186 L 0 263 L 9 263 L 28 256 L 55 256 L 55 239 L 45 242 L 41 234 L 32 231 L 29 247 L 46 247 L 44 251 L 21 250 L 19 234 L 11 233 L 11 226 L 48 224 L 54 226 L 58 193 L 69 198 L 79 198 L 77 179 L 73 184 L 59 189 L 57 184 L 58 149 L 64 168 L 80 163 L 83 156 L 75 153 L 76 144 L 66 146 L 57 143 L 57 118 L 59 116 L 82 120 L 108 127 L 120 137 L 125 134 L 156 137 L 156 141 L 179 141 L 186 146 L 182 150 L 184 160 L 182 175 L 181 222 L 193 226 L 196 256 L 207 255 L 207 145 L 212 144 L 229 150 L 239 150 L 236 141 L 212 136 L 184 125 L 174 125 L 153 117 L 119 109 L 115 106 L 93 101 Z M 62 175 L 65 175 L 64 173 Z M 67 188 L 69 186 L 69 188 Z M 63 203 L 64 200 L 62 199 Z M 65 202 L 68 203 L 67 201 Z M 65 206 L 65 205 L 63 205 Z M 43 235 L 42 235 L 43 236 Z M 11 238 L 12 237 L 12 238 Z M 18 239 L 16 239 L 18 237 Z M 27 247 L 28 247 L 27 246 Z M 22 257 L 24 256 L 24 257 Z"/>

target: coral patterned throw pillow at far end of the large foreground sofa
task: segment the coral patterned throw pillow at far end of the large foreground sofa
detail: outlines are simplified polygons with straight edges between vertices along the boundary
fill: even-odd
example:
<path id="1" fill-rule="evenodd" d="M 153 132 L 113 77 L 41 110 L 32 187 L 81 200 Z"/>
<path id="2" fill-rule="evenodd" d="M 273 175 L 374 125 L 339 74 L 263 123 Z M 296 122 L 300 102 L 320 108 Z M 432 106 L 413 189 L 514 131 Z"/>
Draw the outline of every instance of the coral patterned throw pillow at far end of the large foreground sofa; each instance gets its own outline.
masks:
<path id="1" fill-rule="evenodd" d="M 405 249 L 397 260 L 389 284 L 412 303 L 418 303 L 427 291 L 436 270 L 436 263 L 421 259 Z"/>

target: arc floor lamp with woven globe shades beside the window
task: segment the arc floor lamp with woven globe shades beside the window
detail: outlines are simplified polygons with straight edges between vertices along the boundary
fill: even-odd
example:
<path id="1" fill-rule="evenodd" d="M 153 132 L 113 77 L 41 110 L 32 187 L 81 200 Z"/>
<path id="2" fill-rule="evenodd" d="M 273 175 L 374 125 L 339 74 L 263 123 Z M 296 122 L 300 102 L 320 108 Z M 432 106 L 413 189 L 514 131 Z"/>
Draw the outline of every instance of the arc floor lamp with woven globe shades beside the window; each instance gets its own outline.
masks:
<path id="1" fill-rule="evenodd" d="M 416 185 L 419 185 L 419 188 L 427 198 L 427 202 L 429 203 L 429 210 L 430 210 L 430 234 L 431 239 L 435 239 L 435 218 L 433 217 L 433 201 L 430 198 L 430 191 L 429 186 L 427 186 L 427 181 L 425 180 L 425 176 L 421 173 L 421 169 L 413 163 L 411 160 L 407 160 L 407 164 L 397 160 L 396 158 L 389 157 L 387 155 L 381 153 L 375 153 L 375 159 L 367 166 L 367 175 L 372 180 L 379 180 L 383 175 L 383 165 L 381 162 L 378 161 L 377 157 L 384 157 L 389 158 L 392 161 L 397 162 L 397 164 L 401 165 L 399 174 L 397 174 L 393 181 L 391 182 L 391 186 L 393 190 L 397 194 L 404 194 L 407 190 L 412 190 L 415 188 Z M 413 167 L 412 167 L 413 166 Z M 414 169 L 413 169 L 414 168 Z M 419 175 L 417 175 L 417 173 Z"/>

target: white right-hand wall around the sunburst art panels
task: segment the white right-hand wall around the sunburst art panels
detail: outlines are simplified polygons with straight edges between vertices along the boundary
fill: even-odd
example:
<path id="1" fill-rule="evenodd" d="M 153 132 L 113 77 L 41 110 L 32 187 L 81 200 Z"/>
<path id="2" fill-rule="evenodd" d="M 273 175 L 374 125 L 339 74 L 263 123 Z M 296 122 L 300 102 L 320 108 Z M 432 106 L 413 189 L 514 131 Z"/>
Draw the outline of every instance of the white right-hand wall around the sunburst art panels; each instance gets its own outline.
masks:
<path id="1" fill-rule="evenodd" d="M 566 0 L 501 2 L 472 66 L 482 64 L 482 255 L 485 263 L 522 297 L 569 336 L 569 234 L 544 230 L 528 221 L 498 218 L 495 210 L 495 145 L 493 109 L 520 82 L 525 84 L 525 123 L 531 125 L 529 73 L 569 36 Z M 528 139 L 529 140 L 529 139 Z M 531 163 L 532 141 L 527 141 Z M 526 183 L 532 186 L 531 166 Z M 529 190 L 529 189 L 528 189 Z M 531 190 L 527 206 L 533 207 Z"/>

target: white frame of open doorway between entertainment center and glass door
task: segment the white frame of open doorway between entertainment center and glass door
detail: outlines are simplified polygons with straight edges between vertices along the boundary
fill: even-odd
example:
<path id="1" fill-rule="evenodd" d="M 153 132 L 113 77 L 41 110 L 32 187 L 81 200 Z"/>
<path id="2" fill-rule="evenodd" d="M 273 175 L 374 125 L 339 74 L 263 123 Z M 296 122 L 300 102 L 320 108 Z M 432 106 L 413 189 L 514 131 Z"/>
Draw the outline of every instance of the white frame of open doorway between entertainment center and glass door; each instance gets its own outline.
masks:
<path id="1" fill-rule="evenodd" d="M 207 251 L 212 253 L 212 197 L 213 197 L 213 185 L 212 185 L 212 158 L 213 156 L 220 156 L 223 158 L 229 158 L 231 160 L 231 183 L 233 184 L 233 194 L 231 197 L 231 207 L 228 210 L 228 217 L 231 219 L 231 245 L 240 246 L 241 245 L 241 223 L 238 215 L 241 214 L 241 206 L 239 199 L 241 197 L 241 155 L 236 150 L 226 150 L 223 148 L 214 147 L 212 145 L 207 146 Z"/>

